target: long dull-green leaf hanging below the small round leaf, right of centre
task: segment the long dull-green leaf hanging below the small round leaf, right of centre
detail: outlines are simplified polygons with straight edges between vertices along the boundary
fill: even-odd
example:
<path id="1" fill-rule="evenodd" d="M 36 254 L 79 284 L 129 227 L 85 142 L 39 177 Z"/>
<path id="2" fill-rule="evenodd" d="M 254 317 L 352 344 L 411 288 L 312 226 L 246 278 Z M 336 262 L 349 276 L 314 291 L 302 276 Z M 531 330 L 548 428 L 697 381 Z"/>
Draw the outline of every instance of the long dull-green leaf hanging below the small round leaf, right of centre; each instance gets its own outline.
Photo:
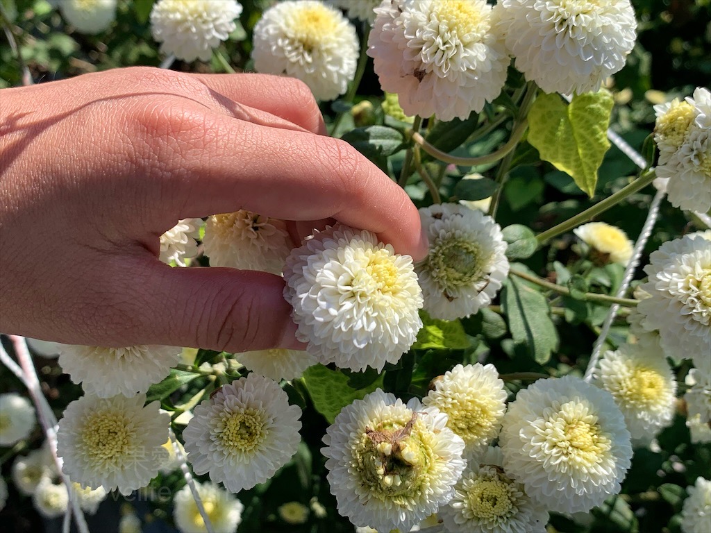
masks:
<path id="1" fill-rule="evenodd" d="M 536 362 L 545 364 L 558 348 L 558 334 L 544 296 L 511 276 L 503 288 L 502 304 L 515 345 L 525 345 Z"/>

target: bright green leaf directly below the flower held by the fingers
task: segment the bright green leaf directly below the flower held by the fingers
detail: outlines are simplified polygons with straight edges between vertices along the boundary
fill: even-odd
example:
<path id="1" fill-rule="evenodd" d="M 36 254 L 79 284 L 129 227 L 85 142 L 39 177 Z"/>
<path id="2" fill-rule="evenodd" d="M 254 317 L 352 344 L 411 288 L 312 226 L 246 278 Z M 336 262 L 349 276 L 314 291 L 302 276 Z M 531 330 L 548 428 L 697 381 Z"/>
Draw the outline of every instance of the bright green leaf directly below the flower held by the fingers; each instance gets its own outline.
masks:
<path id="1" fill-rule="evenodd" d="M 314 402 L 316 411 L 324 415 L 328 424 L 333 424 L 336 415 L 353 400 L 363 399 L 368 392 L 383 387 L 383 377 L 378 377 L 368 387 L 358 390 L 352 389 L 348 387 L 348 376 L 338 370 L 324 367 L 324 365 L 309 367 L 304 372 L 303 379 L 311 402 Z"/>

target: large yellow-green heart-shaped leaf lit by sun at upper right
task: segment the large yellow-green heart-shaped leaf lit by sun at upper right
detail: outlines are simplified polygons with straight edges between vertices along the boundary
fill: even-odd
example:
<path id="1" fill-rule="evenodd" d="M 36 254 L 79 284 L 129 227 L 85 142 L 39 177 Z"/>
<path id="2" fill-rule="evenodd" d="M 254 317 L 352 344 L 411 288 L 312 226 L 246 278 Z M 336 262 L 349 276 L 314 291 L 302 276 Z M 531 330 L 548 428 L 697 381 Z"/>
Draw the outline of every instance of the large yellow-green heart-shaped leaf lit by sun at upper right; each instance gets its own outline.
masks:
<path id="1" fill-rule="evenodd" d="M 541 95 L 528 114 L 528 142 L 543 160 L 570 174 L 590 198 L 610 147 L 607 128 L 613 104 L 606 90 L 575 95 L 570 104 L 558 95 Z"/>

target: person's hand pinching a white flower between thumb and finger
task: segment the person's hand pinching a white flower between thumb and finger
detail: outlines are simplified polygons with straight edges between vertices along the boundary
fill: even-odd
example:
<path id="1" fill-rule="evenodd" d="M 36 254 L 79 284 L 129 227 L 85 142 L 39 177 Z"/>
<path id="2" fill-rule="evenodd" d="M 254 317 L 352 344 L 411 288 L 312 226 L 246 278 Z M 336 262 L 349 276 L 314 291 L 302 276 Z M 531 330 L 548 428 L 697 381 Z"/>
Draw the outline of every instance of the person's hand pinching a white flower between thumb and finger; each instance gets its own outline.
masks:
<path id="1" fill-rule="evenodd" d="M 0 331 L 61 343 L 303 348 L 279 276 L 171 268 L 159 237 L 248 209 L 338 220 L 416 260 L 410 198 L 325 136 L 306 85 L 127 68 L 0 92 Z"/>

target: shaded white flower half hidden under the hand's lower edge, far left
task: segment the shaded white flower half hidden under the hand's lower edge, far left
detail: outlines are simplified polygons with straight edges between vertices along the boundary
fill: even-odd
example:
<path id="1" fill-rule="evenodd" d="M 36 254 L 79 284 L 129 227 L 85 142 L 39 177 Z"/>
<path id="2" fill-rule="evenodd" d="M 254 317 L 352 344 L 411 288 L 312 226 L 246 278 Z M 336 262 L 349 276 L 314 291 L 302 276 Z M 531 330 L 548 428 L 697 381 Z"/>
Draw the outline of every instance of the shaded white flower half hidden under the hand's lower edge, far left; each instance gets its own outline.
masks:
<path id="1" fill-rule="evenodd" d="M 182 348 L 135 345 L 126 348 L 64 345 L 59 365 L 87 394 L 132 397 L 169 375 Z"/>

